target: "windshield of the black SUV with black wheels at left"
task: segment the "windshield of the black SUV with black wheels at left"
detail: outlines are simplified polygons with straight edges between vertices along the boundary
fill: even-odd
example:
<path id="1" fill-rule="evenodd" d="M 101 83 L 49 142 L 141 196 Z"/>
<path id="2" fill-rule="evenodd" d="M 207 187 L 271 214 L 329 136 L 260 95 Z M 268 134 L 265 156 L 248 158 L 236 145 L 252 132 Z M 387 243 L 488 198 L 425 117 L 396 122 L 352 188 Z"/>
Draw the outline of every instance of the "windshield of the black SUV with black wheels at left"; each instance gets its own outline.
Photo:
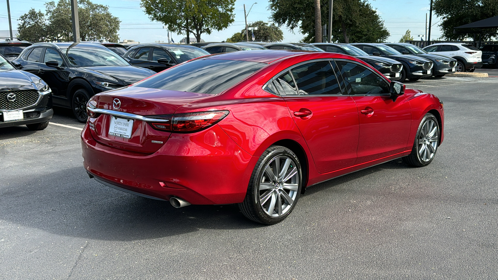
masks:
<path id="1" fill-rule="evenodd" d="M 61 48 L 61 52 L 66 55 L 73 67 L 130 65 L 121 56 L 107 48 Z"/>

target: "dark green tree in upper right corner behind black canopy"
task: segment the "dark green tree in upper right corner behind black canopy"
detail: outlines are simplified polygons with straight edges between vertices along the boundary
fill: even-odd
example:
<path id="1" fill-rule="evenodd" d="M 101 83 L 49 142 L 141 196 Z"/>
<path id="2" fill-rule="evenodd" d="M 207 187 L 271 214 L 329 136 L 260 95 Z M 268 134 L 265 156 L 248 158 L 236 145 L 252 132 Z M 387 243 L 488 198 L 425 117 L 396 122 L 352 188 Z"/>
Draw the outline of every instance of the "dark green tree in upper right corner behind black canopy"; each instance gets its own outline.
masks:
<path id="1" fill-rule="evenodd" d="M 442 18 L 439 26 L 442 36 L 448 40 L 464 40 L 473 37 L 475 31 L 471 29 L 466 34 L 453 34 L 453 28 L 498 15 L 498 0 L 434 0 L 434 13 Z M 483 31 L 497 32 L 498 28 Z M 488 40 L 494 35 L 483 33 L 482 38 Z"/>

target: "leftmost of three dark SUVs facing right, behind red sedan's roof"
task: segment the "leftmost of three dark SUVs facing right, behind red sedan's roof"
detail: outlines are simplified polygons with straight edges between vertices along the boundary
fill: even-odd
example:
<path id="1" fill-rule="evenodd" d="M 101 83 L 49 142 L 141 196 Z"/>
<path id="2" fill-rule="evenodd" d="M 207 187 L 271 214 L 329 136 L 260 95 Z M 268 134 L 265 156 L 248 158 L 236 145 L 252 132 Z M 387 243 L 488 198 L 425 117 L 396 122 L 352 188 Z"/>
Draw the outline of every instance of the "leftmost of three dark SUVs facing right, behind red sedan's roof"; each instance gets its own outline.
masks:
<path id="1" fill-rule="evenodd" d="M 342 53 L 351 56 L 355 56 L 368 64 L 372 65 L 378 72 L 382 73 L 387 79 L 391 81 L 397 81 L 401 79 L 401 69 L 403 69 L 403 64 L 397 62 L 394 59 L 381 56 L 372 56 L 363 50 L 348 44 L 342 43 L 313 43 L 312 45 L 317 46 L 324 51 Z"/>

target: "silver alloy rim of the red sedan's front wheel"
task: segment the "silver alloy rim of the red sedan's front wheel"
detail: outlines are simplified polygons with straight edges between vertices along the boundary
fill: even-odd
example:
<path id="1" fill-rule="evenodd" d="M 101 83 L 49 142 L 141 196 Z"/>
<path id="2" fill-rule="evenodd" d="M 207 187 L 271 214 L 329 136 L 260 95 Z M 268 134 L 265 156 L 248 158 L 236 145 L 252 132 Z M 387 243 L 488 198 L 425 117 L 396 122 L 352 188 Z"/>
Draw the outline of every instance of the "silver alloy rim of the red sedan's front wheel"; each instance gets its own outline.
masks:
<path id="1" fill-rule="evenodd" d="M 418 155 L 424 162 L 430 161 L 438 146 L 439 127 L 432 119 L 428 119 L 422 125 L 418 138 Z"/>

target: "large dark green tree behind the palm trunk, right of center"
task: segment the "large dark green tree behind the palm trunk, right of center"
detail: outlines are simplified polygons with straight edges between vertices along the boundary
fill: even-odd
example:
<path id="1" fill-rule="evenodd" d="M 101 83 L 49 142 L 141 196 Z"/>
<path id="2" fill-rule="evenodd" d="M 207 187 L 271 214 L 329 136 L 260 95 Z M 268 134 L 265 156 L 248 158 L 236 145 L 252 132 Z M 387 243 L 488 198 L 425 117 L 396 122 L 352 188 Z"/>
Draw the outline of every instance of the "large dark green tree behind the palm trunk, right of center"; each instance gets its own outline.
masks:
<path id="1" fill-rule="evenodd" d="M 303 42 L 315 41 L 314 0 L 269 0 L 271 19 L 278 25 L 305 35 Z M 329 1 L 322 1 L 321 20 L 328 22 Z M 382 42 L 389 37 L 383 20 L 367 0 L 334 0 L 332 40 L 343 43 Z"/>

